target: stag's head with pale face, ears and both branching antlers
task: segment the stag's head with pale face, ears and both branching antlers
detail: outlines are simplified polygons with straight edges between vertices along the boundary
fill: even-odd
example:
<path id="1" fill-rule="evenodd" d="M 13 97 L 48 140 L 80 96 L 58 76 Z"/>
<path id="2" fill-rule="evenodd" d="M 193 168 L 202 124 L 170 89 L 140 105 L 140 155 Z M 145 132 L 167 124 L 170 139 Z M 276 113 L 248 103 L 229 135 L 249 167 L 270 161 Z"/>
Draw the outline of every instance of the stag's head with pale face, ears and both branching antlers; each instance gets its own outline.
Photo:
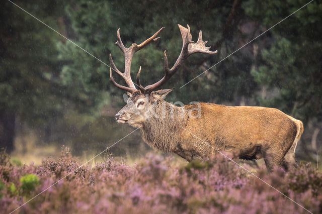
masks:
<path id="1" fill-rule="evenodd" d="M 155 90 L 165 84 L 180 68 L 180 65 L 192 54 L 194 53 L 205 53 L 205 54 L 215 54 L 217 51 L 210 51 L 210 47 L 206 47 L 205 44 L 207 41 L 202 41 L 202 32 L 199 32 L 198 41 L 195 43 L 193 42 L 192 36 L 190 34 L 190 27 L 187 25 L 187 28 L 178 25 L 183 45 L 181 53 L 172 68 L 169 68 L 168 58 L 166 51 L 164 52 L 165 60 L 164 60 L 164 67 L 165 67 L 165 75 L 162 79 L 155 82 L 154 84 L 147 85 L 143 87 L 140 83 L 140 73 L 141 67 L 136 75 L 137 84 L 135 84 L 131 79 L 131 62 L 133 55 L 136 51 L 144 48 L 148 44 L 155 42 L 159 39 L 158 34 L 164 30 L 164 27 L 158 30 L 153 36 L 142 42 L 141 44 L 137 45 L 133 43 L 129 48 L 125 48 L 123 42 L 120 37 L 120 29 L 117 31 L 117 42 L 115 43 L 121 51 L 124 53 L 125 56 L 125 66 L 124 66 L 124 73 L 120 72 L 119 69 L 115 66 L 112 55 L 110 54 L 110 62 L 113 67 L 113 70 L 120 75 L 126 82 L 128 86 L 123 86 L 118 83 L 113 78 L 112 69 L 110 69 L 110 78 L 112 83 L 123 90 L 127 91 L 129 98 L 127 100 L 127 104 L 124 108 L 119 111 L 115 117 L 118 123 L 125 123 L 129 124 L 133 127 L 141 127 L 151 112 L 151 110 L 155 110 L 155 108 L 160 108 L 161 103 L 165 104 L 163 100 L 168 93 L 172 91 L 172 89 L 163 89 L 163 90 Z M 135 85 L 138 87 L 136 88 Z M 170 103 L 168 103 L 170 104 Z M 165 105 L 163 105 L 165 106 Z"/>

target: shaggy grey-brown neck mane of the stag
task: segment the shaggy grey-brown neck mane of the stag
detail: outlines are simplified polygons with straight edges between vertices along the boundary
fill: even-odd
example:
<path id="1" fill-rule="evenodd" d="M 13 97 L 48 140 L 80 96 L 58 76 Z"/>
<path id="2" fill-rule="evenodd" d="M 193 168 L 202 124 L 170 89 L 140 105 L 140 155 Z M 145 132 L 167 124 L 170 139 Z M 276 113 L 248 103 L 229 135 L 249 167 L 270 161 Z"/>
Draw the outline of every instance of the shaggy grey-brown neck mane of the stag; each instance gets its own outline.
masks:
<path id="1" fill-rule="evenodd" d="M 147 113 L 141 127 L 142 138 L 159 151 L 173 152 L 177 147 L 181 126 L 186 120 L 184 108 L 159 99 Z"/>

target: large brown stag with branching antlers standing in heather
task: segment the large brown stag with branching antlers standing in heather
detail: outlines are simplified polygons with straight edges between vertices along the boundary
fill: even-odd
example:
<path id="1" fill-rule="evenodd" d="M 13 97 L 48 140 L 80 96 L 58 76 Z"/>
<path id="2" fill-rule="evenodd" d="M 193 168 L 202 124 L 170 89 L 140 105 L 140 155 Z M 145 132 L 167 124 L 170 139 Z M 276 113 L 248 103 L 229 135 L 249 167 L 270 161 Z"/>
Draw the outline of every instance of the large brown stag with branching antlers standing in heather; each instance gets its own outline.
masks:
<path id="1" fill-rule="evenodd" d="M 303 123 L 274 108 L 261 106 L 227 106 L 215 103 L 197 102 L 177 106 L 165 100 L 172 89 L 157 88 L 164 85 L 187 60 L 195 53 L 216 54 L 206 47 L 202 32 L 197 42 L 192 41 L 190 27 L 178 25 L 183 45 L 175 64 L 170 68 L 166 51 L 164 51 L 163 78 L 143 87 L 140 82 L 141 67 L 136 75 L 135 84 L 131 79 L 131 61 L 135 52 L 157 41 L 153 36 L 129 48 L 123 45 L 120 29 L 115 43 L 125 57 L 124 72 L 113 62 L 110 54 L 110 80 L 127 91 L 127 104 L 115 115 L 116 122 L 127 124 L 141 131 L 142 139 L 150 147 L 172 152 L 187 161 L 205 160 L 217 151 L 234 151 L 238 158 L 258 160 L 263 158 L 269 172 L 274 167 L 285 170 L 296 166 L 295 149 L 301 134 Z M 127 86 L 118 84 L 112 75 L 116 72 Z"/>

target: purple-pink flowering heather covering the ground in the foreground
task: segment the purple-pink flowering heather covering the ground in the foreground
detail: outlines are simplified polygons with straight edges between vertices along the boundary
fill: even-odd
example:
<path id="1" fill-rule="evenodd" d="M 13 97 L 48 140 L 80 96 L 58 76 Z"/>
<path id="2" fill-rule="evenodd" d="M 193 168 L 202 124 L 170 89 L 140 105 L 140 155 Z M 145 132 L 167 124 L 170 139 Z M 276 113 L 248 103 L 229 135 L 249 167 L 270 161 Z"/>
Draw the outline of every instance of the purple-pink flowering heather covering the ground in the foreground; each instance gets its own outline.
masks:
<path id="1" fill-rule="evenodd" d="M 0 212 L 9 213 L 308 213 L 221 155 L 184 166 L 148 154 L 135 166 L 108 156 L 81 166 L 70 153 L 39 166 L 0 158 Z M 322 175 L 309 164 L 285 172 L 248 170 L 313 213 L 322 212 Z M 75 171 L 74 171 L 75 170 Z M 74 171 L 74 172 L 73 172 Z"/>

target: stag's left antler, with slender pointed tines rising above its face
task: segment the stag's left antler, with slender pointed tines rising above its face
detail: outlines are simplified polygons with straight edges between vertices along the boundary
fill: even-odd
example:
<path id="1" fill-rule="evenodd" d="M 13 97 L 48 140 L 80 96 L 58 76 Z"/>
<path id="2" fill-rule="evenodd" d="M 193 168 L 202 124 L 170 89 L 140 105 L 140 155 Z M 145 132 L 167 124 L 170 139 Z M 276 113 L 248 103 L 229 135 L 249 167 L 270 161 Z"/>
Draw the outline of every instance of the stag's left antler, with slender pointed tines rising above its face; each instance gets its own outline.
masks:
<path id="1" fill-rule="evenodd" d="M 117 46 L 119 46 L 119 48 L 121 49 L 121 51 L 124 53 L 124 56 L 125 56 L 124 73 L 122 73 L 121 71 L 119 71 L 119 69 L 117 69 L 117 67 L 115 66 L 115 64 L 113 62 L 113 59 L 112 59 L 112 55 L 111 54 L 110 54 L 110 62 L 111 62 L 111 65 L 113 67 L 113 70 L 115 70 L 118 75 L 120 75 L 121 77 L 123 77 L 123 79 L 125 80 L 126 84 L 129 87 L 126 87 L 126 86 L 123 86 L 123 85 L 120 85 L 120 84 L 116 83 L 115 80 L 114 80 L 114 78 L 113 78 L 113 76 L 112 76 L 112 69 L 110 69 L 110 78 L 111 78 L 112 83 L 116 87 L 121 88 L 123 90 L 127 90 L 127 91 L 129 91 L 131 93 L 133 93 L 134 91 L 137 90 L 135 88 L 135 85 L 134 85 L 132 79 L 131 79 L 131 62 L 132 62 L 133 55 L 134 55 L 134 53 L 136 51 L 139 51 L 142 48 L 144 48 L 145 46 L 149 45 L 150 43 L 157 41 L 159 39 L 159 37 L 157 37 L 157 35 L 161 31 L 163 31 L 164 29 L 165 29 L 165 27 L 161 28 L 153 36 L 151 36 L 150 38 L 148 38 L 147 40 L 145 40 L 144 42 L 142 42 L 139 45 L 137 45 L 136 43 L 133 43 L 131 45 L 131 47 L 129 47 L 129 48 L 125 48 L 125 46 L 123 45 L 123 42 L 121 40 L 120 29 L 117 30 L 117 42 L 115 44 Z M 140 68 L 140 70 L 141 70 L 141 68 Z M 139 75 L 139 73 L 138 73 L 138 75 Z M 140 89 L 141 88 L 143 89 L 142 86 L 140 87 Z"/>

